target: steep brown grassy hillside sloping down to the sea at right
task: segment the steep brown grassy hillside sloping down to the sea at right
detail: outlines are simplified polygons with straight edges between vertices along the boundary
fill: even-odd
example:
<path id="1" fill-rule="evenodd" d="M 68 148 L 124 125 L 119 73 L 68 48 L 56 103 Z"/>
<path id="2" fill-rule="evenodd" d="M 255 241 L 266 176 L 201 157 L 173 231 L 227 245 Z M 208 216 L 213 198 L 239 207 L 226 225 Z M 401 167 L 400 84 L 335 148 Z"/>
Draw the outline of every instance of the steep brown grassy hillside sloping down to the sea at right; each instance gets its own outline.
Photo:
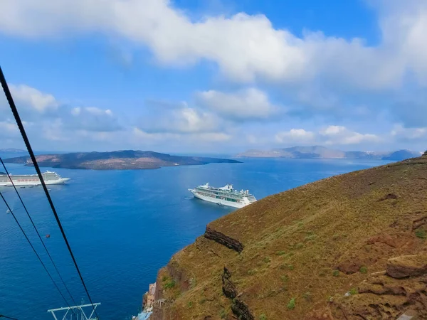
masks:
<path id="1" fill-rule="evenodd" d="M 264 198 L 159 271 L 154 320 L 427 319 L 426 223 L 427 156 Z"/>

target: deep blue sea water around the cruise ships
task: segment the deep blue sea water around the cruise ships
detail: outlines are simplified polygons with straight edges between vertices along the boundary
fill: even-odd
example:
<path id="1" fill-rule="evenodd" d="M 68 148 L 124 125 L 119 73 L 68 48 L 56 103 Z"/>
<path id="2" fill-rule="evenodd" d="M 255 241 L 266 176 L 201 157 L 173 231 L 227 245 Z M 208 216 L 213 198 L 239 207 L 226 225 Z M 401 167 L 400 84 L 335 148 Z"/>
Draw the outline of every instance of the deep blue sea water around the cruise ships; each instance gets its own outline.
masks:
<path id="1" fill-rule="evenodd" d="M 4 155 L 2 155 L 4 156 Z M 207 223 L 233 208 L 191 198 L 187 188 L 209 181 L 248 188 L 260 199 L 304 183 L 385 164 L 386 161 L 244 159 L 243 164 L 179 166 L 139 171 L 57 169 L 71 178 L 49 186 L 65 233 L 102 319 L 130 319 L 157 270 L 174 252 L 204 233 Z M 7 164 L 12 174 L 34 169 Z M 1 171 L 1 170 L 0 170 Z M 13 189 L 1 188 L 17 218 L 48 265 L 46 252 Z M 19 188 L 75 300 L 85 297 L 41 188 Z M 65 293 L 65 292 L 64 292 Z M 0 314 L 17 319 L 51 319 L 48 309 L 65 306 L 6 206 L 0 203 Z M 53 319 L 53 318 L 52 318 Z"/>

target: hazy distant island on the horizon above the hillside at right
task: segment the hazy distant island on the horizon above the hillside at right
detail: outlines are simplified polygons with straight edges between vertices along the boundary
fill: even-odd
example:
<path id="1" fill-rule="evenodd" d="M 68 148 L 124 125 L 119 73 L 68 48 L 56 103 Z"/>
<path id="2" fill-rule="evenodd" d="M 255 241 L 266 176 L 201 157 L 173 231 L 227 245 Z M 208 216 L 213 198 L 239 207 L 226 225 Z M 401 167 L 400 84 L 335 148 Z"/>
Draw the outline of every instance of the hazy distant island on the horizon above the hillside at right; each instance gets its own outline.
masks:
<path id="1" fill-rule="evenodd" d="M 378 159 L 401 161 L 416 156 L 421 152 L 410 150 L 399 151 L 341 151 L 328 149 L 325 146 L 292 146 L 291 148 L 255 150 L 251 149 L 238 158 L 293 158 L 293 159 Z"/>

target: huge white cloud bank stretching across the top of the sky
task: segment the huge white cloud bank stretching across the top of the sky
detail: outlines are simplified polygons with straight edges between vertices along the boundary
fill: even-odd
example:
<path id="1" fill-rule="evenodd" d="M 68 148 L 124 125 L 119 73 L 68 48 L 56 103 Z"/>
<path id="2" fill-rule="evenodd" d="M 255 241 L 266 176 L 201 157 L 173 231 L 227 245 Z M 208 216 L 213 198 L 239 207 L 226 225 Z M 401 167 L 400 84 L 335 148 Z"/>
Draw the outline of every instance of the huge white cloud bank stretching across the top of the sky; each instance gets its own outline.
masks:
<path id="1" fill-rule="evenodd" d="M 147 45 L 160 63 L 215 62 L 237 81 L 307 82 L 323 78 L 367 89 L 396 87 L 407 72 L 426 84 L 427 4 L 376 0 L 378 46 L 306 31 L 302 38 L 267 17 L 239 13 L 191 21 L 167 0 L 15 0 L 2 4 L 0 30 L 43 38 L 104 32 Z"/>

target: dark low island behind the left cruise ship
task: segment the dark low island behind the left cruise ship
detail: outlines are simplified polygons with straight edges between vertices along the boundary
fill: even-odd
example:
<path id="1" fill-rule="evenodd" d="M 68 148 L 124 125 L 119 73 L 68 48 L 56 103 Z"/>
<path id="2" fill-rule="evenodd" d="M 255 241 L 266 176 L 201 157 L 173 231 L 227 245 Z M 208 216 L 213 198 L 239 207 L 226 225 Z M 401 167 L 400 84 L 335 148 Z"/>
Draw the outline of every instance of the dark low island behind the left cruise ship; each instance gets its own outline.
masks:
<path id="1" fill-rule="evenodd" d="M 189 166 L 195 164 L 228 163 L 241 161 L 206 158 L 201 156 L 171 156 L 154 151 L 122 150 L 111 152 L 75 152 L 68 154 L 41 154 L 36 156 L 39 166 L 65 169 L 125 170 L 159 169 L 162 166 Z M 29 156 L 5 159 L 11 164 L 33 166 Z"/>

